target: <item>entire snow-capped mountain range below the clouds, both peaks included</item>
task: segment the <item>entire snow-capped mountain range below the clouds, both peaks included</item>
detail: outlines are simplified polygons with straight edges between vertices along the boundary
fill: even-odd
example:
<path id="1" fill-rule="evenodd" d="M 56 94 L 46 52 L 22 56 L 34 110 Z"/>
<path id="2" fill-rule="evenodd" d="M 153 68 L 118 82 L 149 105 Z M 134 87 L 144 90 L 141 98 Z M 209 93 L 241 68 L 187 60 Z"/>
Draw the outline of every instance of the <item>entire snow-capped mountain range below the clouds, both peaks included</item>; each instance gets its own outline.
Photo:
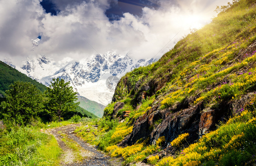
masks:
<path id="1" fill-rule="evenodd" d="M 35 59 L 27 58 L 23 65 L 16 66 L 16 69 L 46 86 L 51 84 L 53 78 L 70 81 L 79 96 L 107 105 L 114 94 L 114 89 L 109 89 L 106 85 L 108 77 L 121 78 L 134 68 L 149 65 L 156 60 L 136 60 L 129 57 L 128 54 L 119 55 L 115 52 L 106 52 L 79 61 L 66 58 L 55 62 L 50 57 L 39 55 Z M 12 64 L 10 60 L 6 63 Z"/>

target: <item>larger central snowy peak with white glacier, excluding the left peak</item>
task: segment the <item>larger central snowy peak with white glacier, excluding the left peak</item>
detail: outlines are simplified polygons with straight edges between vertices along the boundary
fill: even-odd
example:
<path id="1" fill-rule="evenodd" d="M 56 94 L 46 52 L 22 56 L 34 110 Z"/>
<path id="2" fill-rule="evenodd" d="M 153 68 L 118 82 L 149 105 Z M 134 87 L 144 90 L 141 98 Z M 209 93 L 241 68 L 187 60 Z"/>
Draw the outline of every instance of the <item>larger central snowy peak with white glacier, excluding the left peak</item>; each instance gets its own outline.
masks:
<path id="1" fill-rule="evenodd" d="M 49 86 L 52 78 L 62 78 L 65 81 L 70 81 L 80 96 L 107 105 L 114 94 L 114 89 L 110 90 L 106 85 L 108 77 L 121 78 L 132 69 L 154 61 L 156 59 L 135 60 L 128 55 L 106 52 L 103 55 L 94 55 L 89 59 L 71 61 L 53 75 L 40 79 L 39 82 Z"/>

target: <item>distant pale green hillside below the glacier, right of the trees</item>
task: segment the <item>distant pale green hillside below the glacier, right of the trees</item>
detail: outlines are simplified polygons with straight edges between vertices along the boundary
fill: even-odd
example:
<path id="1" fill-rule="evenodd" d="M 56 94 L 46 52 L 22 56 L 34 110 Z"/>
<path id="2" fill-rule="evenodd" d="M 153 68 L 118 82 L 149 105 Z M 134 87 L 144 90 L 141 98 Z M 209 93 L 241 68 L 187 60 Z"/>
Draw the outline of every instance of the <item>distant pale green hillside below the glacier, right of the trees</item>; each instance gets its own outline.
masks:
<path id="1" fill-rule="evenodd" d="M 88 110 L 89 112 L 92 112 L 94 115 L 98 117 L 102 117 L 103 110 L 106 106 L 99 104 L 95 101 L 91 101 L 88 98 L 79 96 L 77 97 L 77 102 L 80 102 L 79 106 L 83 109 Z"/>

